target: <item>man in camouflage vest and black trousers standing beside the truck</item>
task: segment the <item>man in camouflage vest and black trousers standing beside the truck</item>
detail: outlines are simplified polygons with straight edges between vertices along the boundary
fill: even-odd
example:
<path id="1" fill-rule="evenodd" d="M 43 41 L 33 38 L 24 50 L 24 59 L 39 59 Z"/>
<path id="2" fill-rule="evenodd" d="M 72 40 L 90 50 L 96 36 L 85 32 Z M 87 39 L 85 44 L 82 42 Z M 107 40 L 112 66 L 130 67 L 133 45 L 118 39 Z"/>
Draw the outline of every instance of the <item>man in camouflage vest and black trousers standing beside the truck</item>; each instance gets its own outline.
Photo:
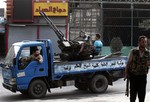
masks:
<path id="1" fill-rule="evenodd" d="M 139 102 L 145 100 L 148 66 L 150 66 L 150 53 L 146 47 L 147 37 L 140 36 L 138 47 L 133 48 L 129 54 L 125 79 L 130 80 L 130 102 L 135 102 L 137 95 Z"/>

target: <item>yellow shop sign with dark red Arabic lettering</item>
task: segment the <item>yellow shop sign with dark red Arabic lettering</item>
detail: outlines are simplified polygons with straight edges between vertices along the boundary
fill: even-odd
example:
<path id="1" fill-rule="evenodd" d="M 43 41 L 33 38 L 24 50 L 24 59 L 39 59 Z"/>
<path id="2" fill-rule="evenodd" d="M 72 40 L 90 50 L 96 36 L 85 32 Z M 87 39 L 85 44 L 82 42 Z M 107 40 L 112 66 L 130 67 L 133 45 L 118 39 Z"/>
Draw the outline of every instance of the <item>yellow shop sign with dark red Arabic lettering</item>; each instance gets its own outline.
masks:
<path id="1" fill-rule="evenodd" d="M 39 12 L 43 11 L 48 16 L 68 16 L 68 3 L 34 3 L 34 16 L 40 16 Z"/>

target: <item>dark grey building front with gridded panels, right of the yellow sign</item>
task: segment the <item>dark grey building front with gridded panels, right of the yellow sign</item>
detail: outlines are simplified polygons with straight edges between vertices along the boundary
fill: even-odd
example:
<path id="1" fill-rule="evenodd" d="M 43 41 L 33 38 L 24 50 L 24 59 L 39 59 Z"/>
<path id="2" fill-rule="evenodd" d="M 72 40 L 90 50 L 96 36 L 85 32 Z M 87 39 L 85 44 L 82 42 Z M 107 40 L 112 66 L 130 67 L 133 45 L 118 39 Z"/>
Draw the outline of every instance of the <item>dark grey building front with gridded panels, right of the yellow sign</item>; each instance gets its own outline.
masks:
<path id="1" fill-rule="evenodd" d="M 136 46 L 140 35 L 150 38 L 150 0 L 69 0 L 70 36 L 81 30 L 100 33 L 105 46 L 120 37 L 124 46 Z"/>

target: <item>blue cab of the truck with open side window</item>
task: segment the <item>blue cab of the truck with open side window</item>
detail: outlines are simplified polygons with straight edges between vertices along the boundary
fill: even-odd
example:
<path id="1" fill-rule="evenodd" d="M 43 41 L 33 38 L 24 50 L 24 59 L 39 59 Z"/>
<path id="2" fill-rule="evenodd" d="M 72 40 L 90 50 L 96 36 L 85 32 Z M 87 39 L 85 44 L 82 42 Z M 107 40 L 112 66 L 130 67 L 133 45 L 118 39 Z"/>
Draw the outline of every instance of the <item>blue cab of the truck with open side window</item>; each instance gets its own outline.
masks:
<path id="1" fill-rule="evenodd" d="M 37 47 L 43 57 L 43 62 L 21 61 L 30 57 L 33 49 Z M 48 76 L 51 62 L 53 62 L 52 44 L 50 40 L 22 41 L 14 43 L 3 64 L 3 86 L 13 92 L 25 92 L 29 83 L 35 78 Z M 48 53 L 47 53 L 48 52 Z M 49 54 L 49 55 L 47 55 Z M 51 55 L 50 55 L 51 54 Z"/>

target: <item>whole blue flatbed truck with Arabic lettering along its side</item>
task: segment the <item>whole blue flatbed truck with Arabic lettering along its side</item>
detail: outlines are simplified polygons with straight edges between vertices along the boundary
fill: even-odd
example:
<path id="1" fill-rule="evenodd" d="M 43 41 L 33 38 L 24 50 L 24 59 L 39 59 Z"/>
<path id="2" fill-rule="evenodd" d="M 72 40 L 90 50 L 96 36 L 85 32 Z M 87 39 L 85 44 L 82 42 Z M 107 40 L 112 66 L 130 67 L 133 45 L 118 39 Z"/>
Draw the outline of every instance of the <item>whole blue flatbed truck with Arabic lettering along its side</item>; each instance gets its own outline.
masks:
<path id="1" fill-rule="evenodd" d="M 43 62 L 22 62 L 38 47 Z M 113 73 L 123 71 L 127 57 L 95 57 L 81 61 L 62 61 L 56 58 L 49 39 L 14 43 L 2 63 L 4 88 L 21 92 L 31 98 L 41 98 L 50 89 L 74 85 L 79 90 L 105 92 L 113 84 Z M 22 64 L 24 63 L 24 64 Z"/>

